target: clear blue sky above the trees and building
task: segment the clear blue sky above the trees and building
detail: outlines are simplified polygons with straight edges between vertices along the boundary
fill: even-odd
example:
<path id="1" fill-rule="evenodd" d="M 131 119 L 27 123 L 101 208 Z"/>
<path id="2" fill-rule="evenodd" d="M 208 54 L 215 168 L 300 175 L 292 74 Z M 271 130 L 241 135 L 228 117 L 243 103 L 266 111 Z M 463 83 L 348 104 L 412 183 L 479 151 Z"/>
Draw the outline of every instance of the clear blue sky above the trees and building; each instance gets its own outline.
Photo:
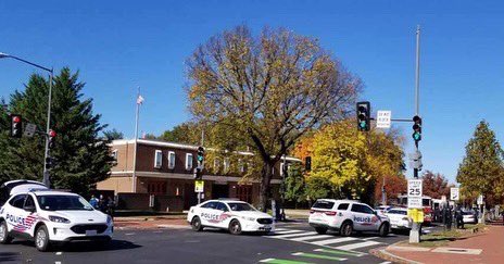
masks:
<path id="1" fill-rule="evenodd" d="M 161 134 L 190 118 L 185 60 L 199 43 L 240 24 L 281 26 L 318 38 L 362 77 L 374 111 L 410 118 L 419 24 L 424 167 L 454 181 L 480 120 L 504 141 L 503 13 L 499 1 L 1 1 L 0 52 L 79 70 L 102 122 L 133 137 L 138 86 L 140 129 Z M 0 60 L 0 97 L 34 72 Z M 411 151 L 411 125 L 396 126 Z"/>

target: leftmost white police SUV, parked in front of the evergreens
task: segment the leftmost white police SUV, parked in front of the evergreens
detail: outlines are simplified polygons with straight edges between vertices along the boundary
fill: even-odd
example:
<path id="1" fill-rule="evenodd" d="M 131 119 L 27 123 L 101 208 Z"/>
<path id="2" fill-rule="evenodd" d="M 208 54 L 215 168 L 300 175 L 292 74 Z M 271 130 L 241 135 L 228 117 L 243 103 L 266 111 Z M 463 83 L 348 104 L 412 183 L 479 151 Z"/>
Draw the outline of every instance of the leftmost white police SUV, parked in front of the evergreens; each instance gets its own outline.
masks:
<path id="1" fill-rule="evenodd" d="M 39 251 L 53 242 L 108 242 L 112 218 L 84 198 L 47 188 L 14 193 L 0 209 L 0 243 L 13 238 L 34 239 Z"/>

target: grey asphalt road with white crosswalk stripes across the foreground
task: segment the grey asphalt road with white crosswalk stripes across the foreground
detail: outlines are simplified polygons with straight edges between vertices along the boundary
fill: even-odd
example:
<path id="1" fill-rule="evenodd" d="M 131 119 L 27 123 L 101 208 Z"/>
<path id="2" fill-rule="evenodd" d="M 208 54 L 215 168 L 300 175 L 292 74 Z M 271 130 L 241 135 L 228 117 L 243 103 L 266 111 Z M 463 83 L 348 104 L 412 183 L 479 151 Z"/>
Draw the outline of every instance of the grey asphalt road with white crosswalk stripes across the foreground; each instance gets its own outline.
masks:
<path id="1" fill-rule="evenodd" d="M 72 243 L 52 252 L 38 252 L 33 242 L 14 240 L 0 246 L 0 263 L 382 263 L 368 251 L 407 239 L 406 234 L 320 236 L 304 222 L 277 228 L 274 236 L 232 236 L 211 229 L 117 230 L 106 248 Z"/>

